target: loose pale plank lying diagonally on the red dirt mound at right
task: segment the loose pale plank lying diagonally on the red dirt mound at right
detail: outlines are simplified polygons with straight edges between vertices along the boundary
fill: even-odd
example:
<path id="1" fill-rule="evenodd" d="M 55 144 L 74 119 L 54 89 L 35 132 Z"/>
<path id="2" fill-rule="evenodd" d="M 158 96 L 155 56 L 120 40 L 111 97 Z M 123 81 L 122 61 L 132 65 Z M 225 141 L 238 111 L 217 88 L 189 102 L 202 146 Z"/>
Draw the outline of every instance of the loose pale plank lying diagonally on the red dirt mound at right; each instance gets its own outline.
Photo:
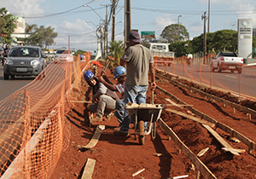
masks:
<path id="1" fill-rule="evenodd" d="M 227 152 L 233 153 L 234 155 L 240 155 L 239 153 L 241 153 L 241 151 L 243 150 L 239 150 L 239 149 L 235 149 L 233 147 L 230 146 L 230 144 L 225 141 L 221 136 L 218 135 L 218 133 L 215 130 L 212 130 L 211 127 L 203 124 L 203 126 L 212 134 L 212 136 L 214 136 L 214 138 L 224 147 L 223 149 Z"/>

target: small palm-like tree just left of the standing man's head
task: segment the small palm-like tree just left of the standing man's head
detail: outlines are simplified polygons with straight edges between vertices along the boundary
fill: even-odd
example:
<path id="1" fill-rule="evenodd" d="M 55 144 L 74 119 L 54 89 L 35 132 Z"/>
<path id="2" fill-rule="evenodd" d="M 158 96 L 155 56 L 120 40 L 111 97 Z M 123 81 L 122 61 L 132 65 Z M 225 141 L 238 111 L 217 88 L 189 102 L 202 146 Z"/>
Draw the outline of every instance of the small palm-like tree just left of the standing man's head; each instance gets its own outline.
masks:
<path id="1" fill-rule="evenodd" d="M 114 58 L 114 61 L 111 62 L 110 66 L 113 66 L 113 67 L 118 66 L 119 65 L 119 59 L 125 53 L 124 43 L 123 43 L 123 41 L 120 41 L 120 40 L 119 40 L 119 42 L 113 40 L 109 44 L 110 44 L 110 46 L 108 48 L 109 48 L 109 51 L 110 51 L 110 55 Z"/>

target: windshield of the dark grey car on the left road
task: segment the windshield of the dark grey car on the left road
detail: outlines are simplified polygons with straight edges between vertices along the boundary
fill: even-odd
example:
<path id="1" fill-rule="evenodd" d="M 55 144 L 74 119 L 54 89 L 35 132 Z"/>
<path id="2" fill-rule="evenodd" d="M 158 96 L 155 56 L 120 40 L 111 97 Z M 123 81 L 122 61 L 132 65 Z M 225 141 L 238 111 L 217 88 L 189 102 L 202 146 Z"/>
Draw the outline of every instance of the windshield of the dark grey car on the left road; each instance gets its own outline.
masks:
<path id="1" fill-rule="evenodd" d="M 10 50 L 9 56 L 37 57 L 37 56 L 39 56 L 39 50 L 38 50 L 38 48 L 32 48 L 32 47 L 13 48 Z"/>

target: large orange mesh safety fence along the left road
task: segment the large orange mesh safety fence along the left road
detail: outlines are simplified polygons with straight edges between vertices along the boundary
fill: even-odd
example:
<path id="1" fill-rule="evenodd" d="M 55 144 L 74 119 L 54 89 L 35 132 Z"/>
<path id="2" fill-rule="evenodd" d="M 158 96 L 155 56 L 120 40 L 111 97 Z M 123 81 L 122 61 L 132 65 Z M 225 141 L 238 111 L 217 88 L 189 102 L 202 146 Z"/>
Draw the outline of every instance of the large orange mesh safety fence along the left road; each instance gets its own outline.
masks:
<path id="1" fill-rule="evenodd" d="M 69 140 L 65 118 L 79 100 L 84 58 L 68 53 L 58 56 L 32 83 L 0 103 L 1 178 L 49 178 Z M 63 58 L 62 58 L 63 57 Z"/>

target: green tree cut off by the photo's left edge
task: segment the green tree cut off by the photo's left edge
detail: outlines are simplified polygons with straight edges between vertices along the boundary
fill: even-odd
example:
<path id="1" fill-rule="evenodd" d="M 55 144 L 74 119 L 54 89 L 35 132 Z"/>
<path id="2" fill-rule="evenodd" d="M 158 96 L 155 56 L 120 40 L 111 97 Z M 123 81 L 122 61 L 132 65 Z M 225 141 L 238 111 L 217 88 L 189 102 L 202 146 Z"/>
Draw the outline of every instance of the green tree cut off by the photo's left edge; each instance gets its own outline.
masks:
<path id="1" fill-rule="evenodd" d="M 5 8 L 0 9 L 0 36 L 3 36 L 3 42 L 10 44 L 13 42 L 11 35 L 15 32 L 15 16 L 8 14 Z"/>

